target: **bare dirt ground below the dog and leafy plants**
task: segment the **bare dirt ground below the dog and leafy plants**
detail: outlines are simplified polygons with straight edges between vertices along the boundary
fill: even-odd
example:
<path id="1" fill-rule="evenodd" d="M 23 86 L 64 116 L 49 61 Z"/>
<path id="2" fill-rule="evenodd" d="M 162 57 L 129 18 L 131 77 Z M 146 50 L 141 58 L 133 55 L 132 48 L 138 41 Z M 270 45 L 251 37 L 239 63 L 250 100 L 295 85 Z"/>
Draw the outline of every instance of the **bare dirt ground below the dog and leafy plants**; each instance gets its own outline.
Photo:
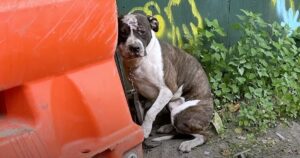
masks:
<path id="1" fill-rule="evenodd" d="M 300 121 L 279 124 L 262 134 L 249 134 L 227 126 L 224 136 L 214 134 L 209 141 L 190 153 L 178 151 L 187 139 L 161 142 L 155 148 L 144 149 L 145 158 L 300 158 Z M 155 130 L 154 130 L 155 131 Z M 152 137 L 157 137 L 155 133 Z M 151 139 L 151 138 L 150 138 Z"/>

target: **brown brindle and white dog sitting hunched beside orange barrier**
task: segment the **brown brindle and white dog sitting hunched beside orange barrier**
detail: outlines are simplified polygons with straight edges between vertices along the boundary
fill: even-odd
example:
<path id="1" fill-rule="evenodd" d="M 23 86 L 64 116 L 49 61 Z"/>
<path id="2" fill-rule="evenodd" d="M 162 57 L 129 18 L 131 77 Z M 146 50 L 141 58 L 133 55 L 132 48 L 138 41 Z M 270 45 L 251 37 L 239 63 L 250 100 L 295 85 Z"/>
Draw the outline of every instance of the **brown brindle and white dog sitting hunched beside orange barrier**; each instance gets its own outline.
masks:
<path id="1" fill-rule="evenodd" d="M 166 106 L 171 111 L 171 124 L 158 131 L 192 135 L 179 150 L 189 152 L 207 140 L 213 115 L 209 81 L 196 58 L 166 42 L 155 32 L 159 23 L 154 16 L 129 13 L 118 18 L 118 44 L 128 80 L 144 98 L 152 102 L 142 123 L 148 138 L 157 114 Z"/>

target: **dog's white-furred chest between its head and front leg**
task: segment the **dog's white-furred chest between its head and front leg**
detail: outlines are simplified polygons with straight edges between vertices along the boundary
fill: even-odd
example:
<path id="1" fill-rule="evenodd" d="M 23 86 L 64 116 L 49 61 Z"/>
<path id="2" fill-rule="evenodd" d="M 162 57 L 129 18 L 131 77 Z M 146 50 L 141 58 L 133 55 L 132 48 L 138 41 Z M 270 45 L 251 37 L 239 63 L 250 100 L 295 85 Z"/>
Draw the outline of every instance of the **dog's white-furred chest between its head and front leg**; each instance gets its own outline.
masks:
<path id="1" fill-rule="evenodd" d="M 156 99 L 159 89 L 165 86 L 162 57 L 159 55 L 160 53 L 149 54 L 141 61 L 139 67 L 131 72 L 137 91 L 151 100 Z"/>

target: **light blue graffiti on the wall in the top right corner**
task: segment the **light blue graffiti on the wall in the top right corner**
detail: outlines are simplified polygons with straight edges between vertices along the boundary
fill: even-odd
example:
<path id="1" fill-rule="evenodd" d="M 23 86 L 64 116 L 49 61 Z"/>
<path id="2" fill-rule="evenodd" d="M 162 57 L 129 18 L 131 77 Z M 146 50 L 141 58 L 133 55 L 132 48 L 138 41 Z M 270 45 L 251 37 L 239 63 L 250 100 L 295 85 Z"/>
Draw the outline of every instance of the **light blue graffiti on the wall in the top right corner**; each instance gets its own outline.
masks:
<path id="1" fill-rule="evenodd" d="M 299 10 L 295 9 L 294 0 L 289 0 L 288 9 L 286 8 L 285 0 L 272 0 L 272 2 L 276 5 L 276 12 L 281 20 L 281 25 L 288 25 L 291 31 L 300 27 Z"/>

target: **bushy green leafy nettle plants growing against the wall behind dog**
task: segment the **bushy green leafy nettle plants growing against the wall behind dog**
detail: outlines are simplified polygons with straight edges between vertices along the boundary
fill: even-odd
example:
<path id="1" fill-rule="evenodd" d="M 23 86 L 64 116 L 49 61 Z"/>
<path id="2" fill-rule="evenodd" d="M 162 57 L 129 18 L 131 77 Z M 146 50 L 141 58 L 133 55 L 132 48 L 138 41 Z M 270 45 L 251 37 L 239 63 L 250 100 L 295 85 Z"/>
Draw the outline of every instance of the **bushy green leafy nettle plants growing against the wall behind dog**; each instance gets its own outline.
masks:
<path id="1" fill-rule="evenodd" d="M 208 73 L 215 107 L 240 105 L 241 127 L 265 130 L 278 119 L 300 116 L 300 49 L 288 27 L 266 23 L 260 14 L 242 10 L 235 28 L 241 37 L 226 48 L 217 20 L 205 19 L 204 29 L 187 37 L 184 48 L 197 57 Z M 252 128 L 253 129 L 253 128 Z"/>

